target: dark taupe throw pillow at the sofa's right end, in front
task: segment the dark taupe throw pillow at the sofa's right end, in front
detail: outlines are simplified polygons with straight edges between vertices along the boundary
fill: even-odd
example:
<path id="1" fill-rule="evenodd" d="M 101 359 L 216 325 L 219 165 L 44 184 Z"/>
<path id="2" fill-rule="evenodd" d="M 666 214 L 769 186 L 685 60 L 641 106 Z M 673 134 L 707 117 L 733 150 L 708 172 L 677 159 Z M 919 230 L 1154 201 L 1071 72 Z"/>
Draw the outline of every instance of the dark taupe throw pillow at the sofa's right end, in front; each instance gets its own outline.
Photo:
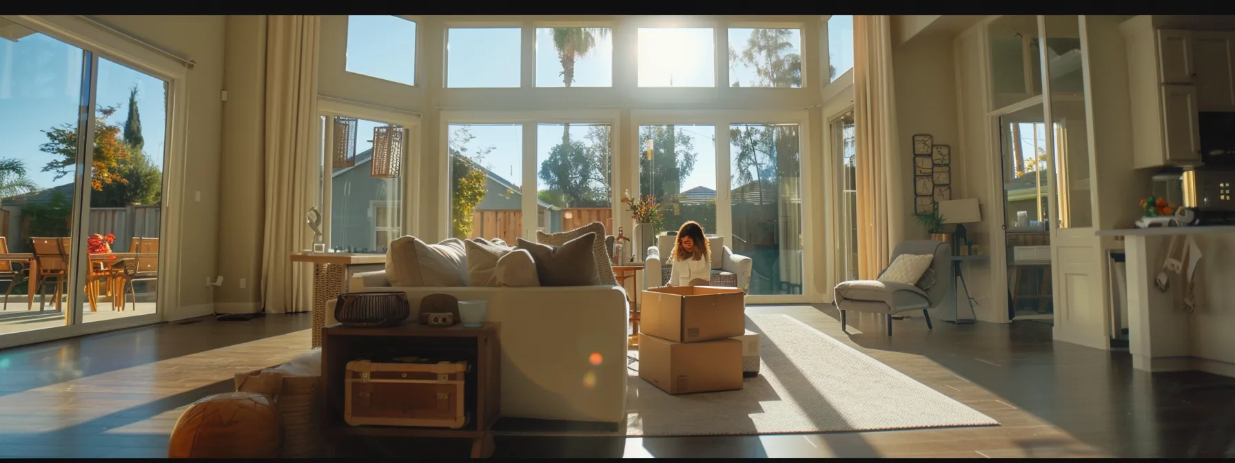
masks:
<path id="1" fill-rule="evenodd" d="M 515 248 L 526 249 L 532 256 L 532 261 L 536 262 L 536 275 L 540 277 L 541 286 L 605 284 L 597 275 L 597 254 L 593 251 L 597 233 L 584 233 L 562 243 L 562 246 L 534 243 L 524 238 L 515 238 L 515 241 L 517 241 Z"/>

